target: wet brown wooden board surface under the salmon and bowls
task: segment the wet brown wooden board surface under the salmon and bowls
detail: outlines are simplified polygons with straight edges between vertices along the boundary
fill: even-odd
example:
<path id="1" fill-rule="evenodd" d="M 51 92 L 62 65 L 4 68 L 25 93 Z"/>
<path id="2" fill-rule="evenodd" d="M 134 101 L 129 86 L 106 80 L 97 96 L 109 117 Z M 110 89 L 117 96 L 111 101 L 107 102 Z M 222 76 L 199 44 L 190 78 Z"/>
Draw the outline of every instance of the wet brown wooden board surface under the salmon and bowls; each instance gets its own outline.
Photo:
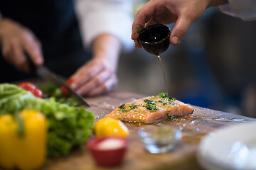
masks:
<path id="1" fill-rule="evenodd" d="M 143 95 L 114 91 L 105 96 L 86 98 L 90 103 L 90 111 L 95 113 L 95 121 L 104 118 L 107 113 L 117 106 L 142 98 Z M 195 112 L 178 118 L 176 121 L 164 120 L 161 123 L 179 128 L 182 138 L 175 148 L 166 154 L 150 154 L 140 142 L 137 131 L 147 126 L 143 123 L 124 123 L 129 128 L 129 147 L 120 166 L 111 169 L 202 169 L 196 161 L 198 146 L 205 135 L 213 130 L 238 123 L 252 122 L 256 119 L 242 115 L 213 111 L 207 108 L 194 107 Z M 156 126 L 156 125 L 155 125 Z M 110 169 L 97 166 L 88 152 L 86 144 L 75 149 L 68 157 L 48 159 L 41 169 Z"/>

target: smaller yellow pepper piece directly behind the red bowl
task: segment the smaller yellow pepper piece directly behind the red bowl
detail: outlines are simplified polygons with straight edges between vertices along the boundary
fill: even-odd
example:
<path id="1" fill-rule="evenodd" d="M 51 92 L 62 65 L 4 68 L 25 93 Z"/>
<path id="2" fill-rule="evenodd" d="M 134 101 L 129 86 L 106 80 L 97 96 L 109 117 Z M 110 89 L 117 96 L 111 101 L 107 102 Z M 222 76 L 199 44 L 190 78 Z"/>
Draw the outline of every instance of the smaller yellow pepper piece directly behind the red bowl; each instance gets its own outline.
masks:
<path id="1" fill-rule="evenodd" d="M 129 130 L 124 123 L 114 118 L 102 118 L 97 121 L 94 132 L 96 137 L 127 137 L 129 135 Z"/>

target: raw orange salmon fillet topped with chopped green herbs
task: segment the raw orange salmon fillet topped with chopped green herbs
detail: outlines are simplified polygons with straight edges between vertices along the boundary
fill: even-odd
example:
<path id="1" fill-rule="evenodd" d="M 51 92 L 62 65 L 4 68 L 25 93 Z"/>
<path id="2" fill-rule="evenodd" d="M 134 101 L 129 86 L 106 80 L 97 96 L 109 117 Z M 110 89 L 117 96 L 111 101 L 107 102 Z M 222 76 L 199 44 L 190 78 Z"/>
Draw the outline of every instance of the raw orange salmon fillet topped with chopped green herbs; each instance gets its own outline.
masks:
<path id="1" fill-rule="evenodd" d="M 105 115 L 124 121 L 154 123 L 169 116 L 193 113 L 193 107 L 171 97 L 149 96 L 125 103 Z"/>

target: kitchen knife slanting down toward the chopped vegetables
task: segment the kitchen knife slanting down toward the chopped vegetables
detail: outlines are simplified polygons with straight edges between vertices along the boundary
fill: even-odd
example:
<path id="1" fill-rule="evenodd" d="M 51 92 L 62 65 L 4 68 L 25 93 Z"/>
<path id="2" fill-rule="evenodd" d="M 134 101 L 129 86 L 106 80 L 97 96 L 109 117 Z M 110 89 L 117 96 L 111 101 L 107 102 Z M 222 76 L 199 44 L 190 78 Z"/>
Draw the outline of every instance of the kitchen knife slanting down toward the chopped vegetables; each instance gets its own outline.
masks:
<path id="1" fill-rule="evenodd" d="M 60 84 L 61 86 L 65 86 L 65 88 L 68 89 L 70 96 L 75 98 L 75 100 L 78 101 L 78 103 L 80 103 L 82 106 L 90 107 L 89 103 L 87 103 L 87 101 L 85 101 L 85 99 L 82 98 L 82 96 L 77 94 L 73 89 L 70 88 L 70 86 L 68 86 L 65 83 L 65 79 L 63 77 L 50 71 L 50 69 L 48 69 L 48 67 L 43 66 L 43 65 L 36 67 L 36 74 L 39 77 L 48 77 L 52 81 L 55 81 L 56 83 Z"/>

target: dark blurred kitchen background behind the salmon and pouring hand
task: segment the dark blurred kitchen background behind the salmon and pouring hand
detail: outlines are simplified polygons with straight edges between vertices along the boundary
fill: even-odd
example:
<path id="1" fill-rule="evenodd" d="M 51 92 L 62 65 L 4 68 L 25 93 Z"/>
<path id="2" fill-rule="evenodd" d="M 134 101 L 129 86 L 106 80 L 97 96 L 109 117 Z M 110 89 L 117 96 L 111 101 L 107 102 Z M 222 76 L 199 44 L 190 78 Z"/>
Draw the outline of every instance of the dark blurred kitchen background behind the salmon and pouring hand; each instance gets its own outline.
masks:
<path id="1" fill-rule="evenodd" d="M 134 13 L 146 1 L 134 1 Z M 173 24 L 169 25 L 172 28 Z M 161 54 L 169 96 L 203 108 L 256 118 L 256 21 L 208 8 L 181 43 Z M 122 54 L 120 91 L 165 92 L 158 58 L 144 49 Z"/>

